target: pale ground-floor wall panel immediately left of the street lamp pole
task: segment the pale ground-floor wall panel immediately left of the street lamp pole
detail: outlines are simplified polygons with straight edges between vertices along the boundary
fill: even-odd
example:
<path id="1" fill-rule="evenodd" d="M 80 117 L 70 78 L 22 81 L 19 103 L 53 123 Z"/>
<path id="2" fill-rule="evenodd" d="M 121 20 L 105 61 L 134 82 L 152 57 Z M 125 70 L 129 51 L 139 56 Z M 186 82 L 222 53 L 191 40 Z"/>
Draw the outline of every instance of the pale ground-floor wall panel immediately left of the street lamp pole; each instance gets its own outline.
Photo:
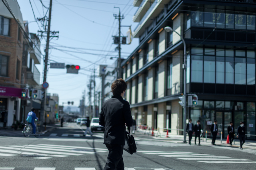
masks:
<path id="1" fill-rule="evenodd" d="M 173 129 L 183 129 L 182 127 L 182 107 L 179 104 L 179 100 L 172 101 L 172 122 Z M 182 134 L 182 131 L 171 130 L 171 134 Z"/>

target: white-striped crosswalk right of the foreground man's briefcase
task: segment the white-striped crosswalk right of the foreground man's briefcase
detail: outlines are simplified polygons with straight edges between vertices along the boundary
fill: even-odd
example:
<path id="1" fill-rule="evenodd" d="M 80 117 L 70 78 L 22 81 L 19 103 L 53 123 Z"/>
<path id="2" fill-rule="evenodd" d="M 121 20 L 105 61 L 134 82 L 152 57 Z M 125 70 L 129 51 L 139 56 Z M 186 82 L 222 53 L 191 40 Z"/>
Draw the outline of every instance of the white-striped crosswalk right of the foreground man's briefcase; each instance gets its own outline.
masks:
<path id="1" fill-rule="evenodd" d="M 222 147 L 223 148 L 223 147 Z M 137 151 L 142 154 L 158 155 L 179 160 L 192 160 L 202 163 L 216 163 L 216 164 L 256 164 L 256 161 L 249 159 L 237 159 L 230 156 L 216 156 L 213 154 L 197 154 L 193 152 L 163 152 L 163 151 Z"/>

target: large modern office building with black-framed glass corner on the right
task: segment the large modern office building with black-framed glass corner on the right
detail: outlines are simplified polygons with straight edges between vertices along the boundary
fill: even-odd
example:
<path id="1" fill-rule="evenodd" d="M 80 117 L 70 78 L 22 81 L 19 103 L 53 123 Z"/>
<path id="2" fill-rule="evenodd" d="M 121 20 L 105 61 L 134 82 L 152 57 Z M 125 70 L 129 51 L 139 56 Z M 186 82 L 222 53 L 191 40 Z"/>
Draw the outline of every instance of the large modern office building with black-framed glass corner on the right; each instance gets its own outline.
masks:
<path id="1" fill-rule="evenodd" d="M 139 45 L 122 62 L 126 100 L 138 124 L 172 128 L 182 134 L 183 108 L 178 97 L 196 94 L 198 105 L 186 118 L 201 121 L 204 135 L 218 121 L 218 137 L 244 121 L 247 139 L 255 140 L 255 0 L 134 0 Z M 183 81 L 186 42 L 187 79 Z M 235 130 L 236 132 L 236 130 Z"/>

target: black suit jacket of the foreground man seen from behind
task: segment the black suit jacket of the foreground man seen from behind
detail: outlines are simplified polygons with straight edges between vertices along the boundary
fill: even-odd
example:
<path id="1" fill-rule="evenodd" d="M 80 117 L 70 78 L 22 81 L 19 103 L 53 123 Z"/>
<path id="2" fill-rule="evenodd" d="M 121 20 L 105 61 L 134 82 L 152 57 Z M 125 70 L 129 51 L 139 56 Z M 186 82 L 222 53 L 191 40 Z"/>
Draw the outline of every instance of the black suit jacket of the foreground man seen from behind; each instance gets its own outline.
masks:
<path id="1" fill-rule="evenodd" d="M 104 101 L 99 124 L 105 127 L 104 144 L 125 143 L 125 124 L 132 127 L 132 115 L 128 101 L 122 96 L 114 95 L 112 98 Z"/>

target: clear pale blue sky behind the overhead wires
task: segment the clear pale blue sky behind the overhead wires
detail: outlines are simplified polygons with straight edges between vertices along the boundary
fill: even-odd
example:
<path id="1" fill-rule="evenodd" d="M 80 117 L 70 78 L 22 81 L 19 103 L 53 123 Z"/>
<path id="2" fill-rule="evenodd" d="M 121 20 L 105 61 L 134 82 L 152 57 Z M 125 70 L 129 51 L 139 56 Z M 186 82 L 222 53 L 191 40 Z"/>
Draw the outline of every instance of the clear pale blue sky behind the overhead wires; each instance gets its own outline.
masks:
<path id="1" fill-rule="evenodd" d="M 40 0 L 17 1 L 23 20 L 29 23 L 29 32 L 38 34 L 38 30 L 44 30 L 41 22 L 35 22 L 35 18 L 43 18 L 45 15 L 48 17 L 47 9 Z M 49 7 L 50 0 L 41 1 L 44 6 Z M 78 74 L 70 74 L 66 73 L 66 69 L 52 69 L 48 66 L 47 93 L 57 93 L 59 105 L 64 103 L 64 106 L 68 106 L 68 101 L 74 101 L 74 106 L 79 106 L 84 90 L 88 105 L 88 83 L 94 68 L 96 92 L 101 91 L 101 77 L 97 74 L 98 65 L 111 65 L 115 60 L 110 57 L 118 57 L 118 51 L 115 51 L 117 45 L 113 44 L 112 36 L 118 36 L 118 20 L 113 14 L 118 15 L 119 9 L 114 7 L 119 7 L 121 15 L 124 14 L 121 26 L 131 25 L 133 31 L 138 23 L 132 22 L 132 17 L 138 7 L 132 4 L 133 0 L 52 0 L 50 30 L 59 31 L 59 38 L 50 40 L 48 64 L 59 62 L 81 67 Z M 121 36 L 126 36 L 127 31 L 128 27 L 122 27 Z M 42 54 L 45 54 L 45 40 L 46 38 L 41 39 Z M 134 38 L 130 45 L 121 45 L 121 57 L 128 57 L 137 46 L 137 38 Z M 40 71 L 42 84 L 43 59 L 36 67 Z"/>

